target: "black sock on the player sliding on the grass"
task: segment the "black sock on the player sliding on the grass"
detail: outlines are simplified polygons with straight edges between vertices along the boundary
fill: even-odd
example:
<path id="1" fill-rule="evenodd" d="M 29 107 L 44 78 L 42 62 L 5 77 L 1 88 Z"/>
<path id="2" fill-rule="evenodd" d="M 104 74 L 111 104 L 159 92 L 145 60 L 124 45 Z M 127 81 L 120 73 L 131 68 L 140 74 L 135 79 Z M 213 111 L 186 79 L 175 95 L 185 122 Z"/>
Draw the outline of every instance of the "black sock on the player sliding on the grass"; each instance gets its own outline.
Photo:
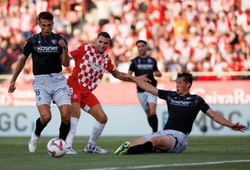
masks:
<path id="1" fill-rule="evenodd" d="M 152 142 L 148 141 L 142 145 L 135 145 L 129 147 L 127 154 L 141 154 L 145 152 L 151 152 L 153 149 Z"/>

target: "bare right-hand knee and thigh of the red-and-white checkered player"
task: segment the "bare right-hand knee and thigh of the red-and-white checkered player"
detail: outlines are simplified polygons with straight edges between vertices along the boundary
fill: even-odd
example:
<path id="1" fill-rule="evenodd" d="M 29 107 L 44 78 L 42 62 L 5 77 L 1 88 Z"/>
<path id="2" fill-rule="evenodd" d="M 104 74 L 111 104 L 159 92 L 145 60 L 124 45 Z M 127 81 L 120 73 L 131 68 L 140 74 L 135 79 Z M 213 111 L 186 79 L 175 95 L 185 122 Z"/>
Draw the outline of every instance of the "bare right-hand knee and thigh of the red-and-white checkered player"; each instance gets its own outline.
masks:
<path id="1" fill-rule="evenodd" d="M 106 123 L 108 120 L 107 115 L 104 113 L 100 103 L 91 107 L 88 113 L 91 114 L 99 123 Z"/>

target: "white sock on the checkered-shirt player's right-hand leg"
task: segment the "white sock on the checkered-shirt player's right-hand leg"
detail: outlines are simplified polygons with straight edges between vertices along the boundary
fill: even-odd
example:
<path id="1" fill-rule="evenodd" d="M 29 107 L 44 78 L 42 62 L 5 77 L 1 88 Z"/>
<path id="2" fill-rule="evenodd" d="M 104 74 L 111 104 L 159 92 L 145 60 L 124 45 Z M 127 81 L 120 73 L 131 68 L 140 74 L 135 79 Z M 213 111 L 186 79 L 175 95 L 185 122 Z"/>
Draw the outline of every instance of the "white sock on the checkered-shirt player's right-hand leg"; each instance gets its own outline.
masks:
<path id="1" fill-rule="evenodd" d="M 101 124 L 98 121 L 95 122 L 94 127 L 92 129 L 92 134 L 89 138 L 89 143 L 88 146 L 91 145 L 91 147 L 95 146 L 96 141 L 98 140 L 98 138 L 101 136 L 102 131 L 105 127 L 105 124 Z"/>

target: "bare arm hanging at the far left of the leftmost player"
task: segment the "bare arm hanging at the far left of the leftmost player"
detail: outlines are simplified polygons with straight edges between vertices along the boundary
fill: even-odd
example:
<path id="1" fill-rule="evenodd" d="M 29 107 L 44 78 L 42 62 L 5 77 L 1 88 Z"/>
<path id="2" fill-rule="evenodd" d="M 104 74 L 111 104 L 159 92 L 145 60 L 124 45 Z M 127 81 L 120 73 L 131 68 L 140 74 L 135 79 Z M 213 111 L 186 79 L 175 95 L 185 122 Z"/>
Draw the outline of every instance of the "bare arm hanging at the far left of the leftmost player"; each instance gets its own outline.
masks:
<path id="1" fill-rule="evenodd" d="M 20 72 L 23 70 L 23 67 L 25 66 L 27 58 L 28 57 L 25 55 L 22 55 L 22 57 L 19 58 L 17 65 L 16 65 L 16 68 L 14 70 L 13 76 L 10 80 L 10 85 L 9 85 L 9 89 L 8 89 L 9 93 L 13 93 L 16 90 L 16 86 L 15 86 L 16 79 L 17 79 L 18 75 L 20 74 Z"/>

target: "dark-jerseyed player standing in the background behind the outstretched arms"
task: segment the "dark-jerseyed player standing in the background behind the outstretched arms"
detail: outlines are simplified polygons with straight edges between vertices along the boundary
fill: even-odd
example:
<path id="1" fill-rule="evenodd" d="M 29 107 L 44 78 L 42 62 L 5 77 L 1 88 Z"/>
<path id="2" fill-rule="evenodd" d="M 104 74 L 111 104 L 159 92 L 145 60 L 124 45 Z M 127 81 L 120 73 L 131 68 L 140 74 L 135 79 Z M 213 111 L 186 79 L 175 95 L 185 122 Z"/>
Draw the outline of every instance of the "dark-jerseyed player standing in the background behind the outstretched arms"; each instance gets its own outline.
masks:
<path id="1" fill-rule="evenodd" d="M 133 72 L 136 77 L 144 77 L 150 80 L 154 87 L 157 85 L 157 81 L 154 76 L 161 77 L 162 74 L 157 67 L 157 61 L 147 55 L 147 42 L 144 40 L 138 40 L 136 46 L 139 52 L 139 56 L 131 60 L 128 74 L 132 75 Z M 153 95 L 139 86 L 137 86 L 137 96 L 141 103 L 142 108 L 147 114 L 148 123 L 151 126 L 153 132 L 157 132 L 158 119 L 156 116 L 157 96 Z"/>

